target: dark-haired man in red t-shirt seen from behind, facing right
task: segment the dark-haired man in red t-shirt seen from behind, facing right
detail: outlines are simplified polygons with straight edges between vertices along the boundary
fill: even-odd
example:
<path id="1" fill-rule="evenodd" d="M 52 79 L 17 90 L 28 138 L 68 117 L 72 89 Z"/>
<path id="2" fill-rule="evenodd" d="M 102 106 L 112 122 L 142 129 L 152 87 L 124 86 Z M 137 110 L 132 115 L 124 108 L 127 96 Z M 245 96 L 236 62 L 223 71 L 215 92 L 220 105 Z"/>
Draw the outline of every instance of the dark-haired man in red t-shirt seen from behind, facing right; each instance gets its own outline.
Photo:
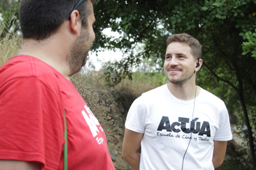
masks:
<path id="1" fill-rule="evenodd" d="M 24 45 L 0 67 L 0 169 L 109 169 L 106 134 L 71 83 L 95 39 L 95 0 L 22 0 Z"/>

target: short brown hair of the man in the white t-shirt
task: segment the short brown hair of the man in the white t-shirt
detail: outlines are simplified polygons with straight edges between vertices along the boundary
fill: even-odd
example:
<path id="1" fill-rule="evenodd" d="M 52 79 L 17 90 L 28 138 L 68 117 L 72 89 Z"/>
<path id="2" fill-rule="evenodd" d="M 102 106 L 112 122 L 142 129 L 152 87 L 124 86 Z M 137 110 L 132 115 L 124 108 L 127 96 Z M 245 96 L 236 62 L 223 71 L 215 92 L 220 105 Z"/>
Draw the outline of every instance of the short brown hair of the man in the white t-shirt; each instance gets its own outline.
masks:
<path id="1" fill-rule="evenodd" d="M 202 46 L 200 45 L 199 41 L 193 36 L 190 36 L 187 33 L 182 34 L 173 34 L 172 36 L 169 36 L 166 41 L 166 47 L 170 45 L 170 43 L 173 42 L 180 42 L 180 43 L 186 43 L 191 47 L 191 54 L 195 59 L 200 58 L 202 55 Z"/>

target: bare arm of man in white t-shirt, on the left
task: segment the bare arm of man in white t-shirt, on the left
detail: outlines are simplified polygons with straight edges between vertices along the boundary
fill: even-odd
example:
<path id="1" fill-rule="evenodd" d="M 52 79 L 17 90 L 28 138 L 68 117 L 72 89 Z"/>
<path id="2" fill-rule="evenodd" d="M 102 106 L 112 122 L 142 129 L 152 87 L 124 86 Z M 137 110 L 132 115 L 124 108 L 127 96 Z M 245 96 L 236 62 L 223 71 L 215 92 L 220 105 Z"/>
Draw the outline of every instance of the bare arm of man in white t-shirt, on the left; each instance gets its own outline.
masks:
<path id="1" fill-rule="evenodd" d="M 134 170 L 140 169 L 140 143 L 143 134 L 125 128 L 122 156 Z"/>

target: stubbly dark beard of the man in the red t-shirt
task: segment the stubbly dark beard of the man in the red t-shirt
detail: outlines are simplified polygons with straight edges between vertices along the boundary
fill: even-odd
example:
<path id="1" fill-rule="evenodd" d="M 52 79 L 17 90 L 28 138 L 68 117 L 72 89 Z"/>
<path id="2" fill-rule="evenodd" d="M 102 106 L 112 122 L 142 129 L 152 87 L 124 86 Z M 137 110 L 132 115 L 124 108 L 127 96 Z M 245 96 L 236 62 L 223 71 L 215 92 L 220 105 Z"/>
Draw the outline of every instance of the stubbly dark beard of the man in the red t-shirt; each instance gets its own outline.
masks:
<path id="1" fill-rule="evenodd" d="M 92 45 L 92 43 L 88 42 L 88 33 L 86 29 L 83 29 L 81 35 L 76 39 L 67 55 L 67 62 L 70 69 L 68 76 L 76 74 L 86 64 L 87 55 Z"/>

